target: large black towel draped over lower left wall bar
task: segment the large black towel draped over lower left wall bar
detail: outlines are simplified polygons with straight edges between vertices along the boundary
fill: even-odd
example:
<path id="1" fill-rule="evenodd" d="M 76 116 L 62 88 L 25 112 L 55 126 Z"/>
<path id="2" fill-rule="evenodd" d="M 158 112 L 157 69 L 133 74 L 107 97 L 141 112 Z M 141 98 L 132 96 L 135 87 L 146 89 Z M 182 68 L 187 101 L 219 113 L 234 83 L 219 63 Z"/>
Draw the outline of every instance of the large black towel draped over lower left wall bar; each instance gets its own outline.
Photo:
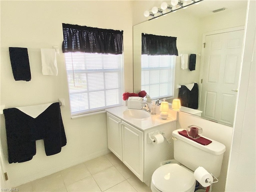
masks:
<path id="1" fill-rule="evenodd" d="M 4 116 L 9 163 L 31 160 L 39 139 L 44 139 L 47 156 L 59 153 L 66 145 L 59 103 L 51 104 L 36 118 L 17 108 L 4 109 Z"/>

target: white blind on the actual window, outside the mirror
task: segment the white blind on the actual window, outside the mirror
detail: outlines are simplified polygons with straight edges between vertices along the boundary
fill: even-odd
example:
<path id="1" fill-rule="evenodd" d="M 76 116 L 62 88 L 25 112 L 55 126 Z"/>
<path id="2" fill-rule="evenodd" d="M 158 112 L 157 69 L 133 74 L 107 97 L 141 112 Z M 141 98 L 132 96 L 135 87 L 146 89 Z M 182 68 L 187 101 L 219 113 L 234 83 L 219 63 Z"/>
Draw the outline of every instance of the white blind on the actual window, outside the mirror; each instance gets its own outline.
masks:
<path id="1" fill-rule="evenodd" d="M 65 53 L 71 115 L 122 104 L 122 54 Z"/>

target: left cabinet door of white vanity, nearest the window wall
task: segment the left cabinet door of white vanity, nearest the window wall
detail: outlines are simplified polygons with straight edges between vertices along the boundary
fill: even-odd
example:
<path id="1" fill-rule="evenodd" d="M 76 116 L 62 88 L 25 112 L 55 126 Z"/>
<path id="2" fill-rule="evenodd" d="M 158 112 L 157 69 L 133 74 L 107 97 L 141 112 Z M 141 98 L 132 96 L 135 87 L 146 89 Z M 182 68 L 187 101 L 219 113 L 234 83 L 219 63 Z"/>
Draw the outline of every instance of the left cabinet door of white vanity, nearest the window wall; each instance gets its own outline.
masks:
<path id="1" fill-rule="evenodd" d="M 121 120 L 107 113 L 108 148 L 122 161 Z"/>

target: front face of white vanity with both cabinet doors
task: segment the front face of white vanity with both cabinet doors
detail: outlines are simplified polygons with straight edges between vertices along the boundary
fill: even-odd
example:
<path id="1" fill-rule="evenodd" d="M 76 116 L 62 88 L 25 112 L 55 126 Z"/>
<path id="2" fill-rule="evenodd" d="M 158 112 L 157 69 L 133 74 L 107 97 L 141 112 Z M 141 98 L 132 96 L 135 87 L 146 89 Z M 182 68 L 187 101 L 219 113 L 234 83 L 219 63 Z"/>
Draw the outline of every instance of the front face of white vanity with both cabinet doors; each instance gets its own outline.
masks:
<path id="1" fill-rule="evenodd" d="M 109 150 L 144 181 L 143 132 L 109 113 L 107 123 Z"/>

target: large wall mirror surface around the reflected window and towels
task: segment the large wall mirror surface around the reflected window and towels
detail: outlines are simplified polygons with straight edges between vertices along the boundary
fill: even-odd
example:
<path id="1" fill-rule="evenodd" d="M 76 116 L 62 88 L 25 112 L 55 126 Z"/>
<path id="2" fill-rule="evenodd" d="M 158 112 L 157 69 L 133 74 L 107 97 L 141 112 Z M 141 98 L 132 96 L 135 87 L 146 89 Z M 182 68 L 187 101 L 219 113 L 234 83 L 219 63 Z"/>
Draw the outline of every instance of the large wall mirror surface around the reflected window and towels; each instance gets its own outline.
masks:
<path id="1" fill-rule="evenodd" d="M 174 98 L 178 98 L 181 85 L 198 83 L 199 92 L 198 109 L 180 110 L 232 126 L 246 6 L 244 0 L 204 0 L 135 25 L 134 92 L 141 90 L 142 33 L 177 37 Z M 224 10 L 212 12 L 220 8 Z M 196 54 L 196 70 L 181 68 L 181 54 Z M 174 98 L 167 101 L 172 103 Z"/>

